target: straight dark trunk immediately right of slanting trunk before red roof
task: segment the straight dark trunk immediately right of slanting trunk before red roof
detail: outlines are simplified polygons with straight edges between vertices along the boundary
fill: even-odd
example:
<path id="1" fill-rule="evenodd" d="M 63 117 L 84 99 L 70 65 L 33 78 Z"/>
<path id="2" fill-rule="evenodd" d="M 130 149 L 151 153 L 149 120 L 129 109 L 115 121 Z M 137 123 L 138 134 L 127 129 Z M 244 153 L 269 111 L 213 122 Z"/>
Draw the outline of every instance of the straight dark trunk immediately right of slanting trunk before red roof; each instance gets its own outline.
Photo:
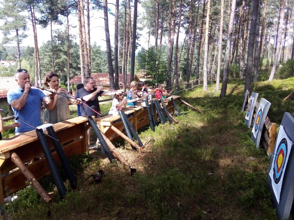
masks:
<path id="1" fill-rule="evenodd" d="M 88 1 L 88 0 L 87 0 Z M 115 3 L 115 19 L 114 19 L 114 87 L 119 89 L 118 86 L 118 6 L 119 0 Z"/>

